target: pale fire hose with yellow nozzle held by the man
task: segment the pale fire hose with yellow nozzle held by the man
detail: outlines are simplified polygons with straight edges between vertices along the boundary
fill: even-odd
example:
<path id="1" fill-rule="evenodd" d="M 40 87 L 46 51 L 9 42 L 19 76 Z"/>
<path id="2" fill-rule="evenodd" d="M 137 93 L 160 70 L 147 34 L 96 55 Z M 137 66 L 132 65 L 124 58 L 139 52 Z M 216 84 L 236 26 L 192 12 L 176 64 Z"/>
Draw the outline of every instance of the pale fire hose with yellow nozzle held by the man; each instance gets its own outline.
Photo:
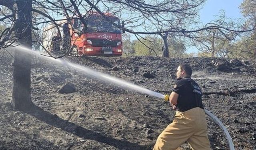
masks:
<path id="1" fill-rule="evenodd" d="M 169 100 L 169 95 L 165 95 L 164 96 L 164 100 L 165 101 L 168 101 Z M 214 116 L 211 112 L 209 112 L 208 110 L 204 109 L 205 113 L 210 117 L 212 118 L 217 124 L 218 126 L 222 129 L 222 131 L 224 132 L 226 138 L 228 139 L 228 145 L 229 145 L 229 148 L 230 150 L 235 150 L 234 148 L 234 144 L 232 142 L 232 139 L 231 139 L 231 136 L 230 134 L 228 133 L 228 130 L 225 128 L 225 126 L 222 124 L 222 122 L 216 117 Z"/>

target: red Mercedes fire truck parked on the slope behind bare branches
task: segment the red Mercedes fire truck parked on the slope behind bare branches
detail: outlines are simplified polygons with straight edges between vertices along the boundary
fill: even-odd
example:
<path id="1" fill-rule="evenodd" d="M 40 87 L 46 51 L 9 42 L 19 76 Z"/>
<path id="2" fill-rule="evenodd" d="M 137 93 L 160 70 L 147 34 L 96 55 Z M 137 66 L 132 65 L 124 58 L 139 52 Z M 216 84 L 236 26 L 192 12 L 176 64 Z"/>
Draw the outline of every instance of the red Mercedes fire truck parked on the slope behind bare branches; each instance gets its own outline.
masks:
<path id="1" fill-rule="evenodd" d="M 84 21 L 81 21 L 80 18 L 72 18 L 71 25 L 68 25 L 70 34 L 69 39 L 71 38 L 70 45 L 68 47 L 71 54 L 78 54 L 78 56 L 122 55 L 121 34 L 124 33 L 124 31 L 116 27 L 114 24 L 119 27 L 124 27 L 124 23 L 122 23 L 121 25 L 118 17 L 114 16 L 111 13 L 104 13 L 103 15 L 95 12 L 90 12 L 86 17 L 84 17 Z M 60 24 L 62 24 L 61 30 L 64 32 L 64 22 Z M 52 30 L 50 28 L 46 29 L 48 30 L 47 32 Z M 56 38 L 58 37 L 58 35 L 56 36 L 52 32 L 50 34 L 48 33 L 49 35 L 47 35 L 47 32 L 45 36 L 46 38 L 48 38 L 48 40 L 52 40 L 53 36 L 55 37 L 55 39 L 58 39 Z M 64 37 L 62 36 L 63 44 L 60 44 L 61 48 L 63 48 L 63 45 L 65 44 L 63 38 Z M 48 46 L 48 51 L 53 50 L 52 47 L 52 45 Z"/>

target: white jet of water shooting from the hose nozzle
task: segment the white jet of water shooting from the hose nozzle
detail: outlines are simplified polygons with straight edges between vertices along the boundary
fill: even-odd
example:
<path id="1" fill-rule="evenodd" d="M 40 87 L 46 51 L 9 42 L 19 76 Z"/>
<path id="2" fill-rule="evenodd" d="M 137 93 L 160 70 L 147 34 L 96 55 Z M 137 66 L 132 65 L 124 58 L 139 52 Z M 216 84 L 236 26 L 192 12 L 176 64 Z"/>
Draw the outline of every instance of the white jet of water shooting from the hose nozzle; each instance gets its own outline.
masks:
<path id="1" fill-rule="evenodd" d="M 160 94 L 158 92 L 154 92 L 152 90 L 142 88 L 138 85 L 135 85 L 135 84 L 126 82 L 124 80 L 121 80 L 120 78 L 116 78 L 116 77 L 113 77 L 113 76 L 109 76 L 107 74 L 103 74 L 103 73 L 94 71 L 94 70 L 92 70 L 88 67 L 85 67 L 85 66 L 80 66 L 78 64 L 73 64 L 71 62 L 60 60 L 60 59 L 54 59 L 52 57 L 42 56 L 39 52 L 32 51 L 29 48 L 26 48 L 26 47 L 23 47 L 23 46 L 17 46 L 17 49 L 22 50 L 23 52 L 26 52 L 28 54 L 32 54 L 32 55 L 35 55 L 37 57 L 43 58 L 47 61 L 54 62 L 56 64 L 61 64 L 61 65 L 64 65 L 64 66 L 70 66 L 71 68 L 79 70 L 80 72 L 84 73 L 87 76 L 94 76 L 95 78 L 98 78 L 100 80 L 104 80 L 105 82 L 112 82 L 113 84 L 116 84 L 117 86 L 122 86 L 124 88 L 129 89 L 129 90 L 135 90 L 135 91 L 138 91 L 138 92 L 141 92 L 141 93 L 144 93 L 144 94 L 148 94 L 148 95 L 151 95 L 151 96 L 155 96 L 155 97 L 158 97 L 158 98 L 164 98 L 165 97 L 163 94 Z"/>

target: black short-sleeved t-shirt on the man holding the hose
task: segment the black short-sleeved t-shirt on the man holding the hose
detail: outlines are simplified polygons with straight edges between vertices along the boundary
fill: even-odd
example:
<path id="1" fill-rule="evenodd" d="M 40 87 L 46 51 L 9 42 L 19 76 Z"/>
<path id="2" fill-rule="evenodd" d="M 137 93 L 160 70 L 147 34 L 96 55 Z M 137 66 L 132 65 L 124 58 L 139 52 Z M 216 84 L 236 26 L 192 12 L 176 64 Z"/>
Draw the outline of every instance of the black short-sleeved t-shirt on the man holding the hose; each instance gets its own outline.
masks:
<path id="1" fill-rule="evenodd" d="M 195 107 L 204 109 L 201 89 L 191 78 L 178 79 L 172 91 L 179 94 L 177 101 L 178 111 L 185 112 Z"/>

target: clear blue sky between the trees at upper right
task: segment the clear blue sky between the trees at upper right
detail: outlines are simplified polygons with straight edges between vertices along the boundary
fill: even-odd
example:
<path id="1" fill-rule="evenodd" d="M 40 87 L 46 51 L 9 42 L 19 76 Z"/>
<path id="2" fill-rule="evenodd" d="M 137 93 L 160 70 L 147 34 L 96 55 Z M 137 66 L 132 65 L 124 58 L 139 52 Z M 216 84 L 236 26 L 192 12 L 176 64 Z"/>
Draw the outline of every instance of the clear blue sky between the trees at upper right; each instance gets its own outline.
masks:
<path id="1" fill-rule="evenodd" d="M 221 10 L 225 11 L 225 16 L 231 19 L 242 18 L 239 6 L 243 0 L 207 0 L 202 10 L 200 10 L 200 20 L 206 24 L 216 18 Z M 197 52 L 196 48 L 190 47 L 188 53 Z"/>

